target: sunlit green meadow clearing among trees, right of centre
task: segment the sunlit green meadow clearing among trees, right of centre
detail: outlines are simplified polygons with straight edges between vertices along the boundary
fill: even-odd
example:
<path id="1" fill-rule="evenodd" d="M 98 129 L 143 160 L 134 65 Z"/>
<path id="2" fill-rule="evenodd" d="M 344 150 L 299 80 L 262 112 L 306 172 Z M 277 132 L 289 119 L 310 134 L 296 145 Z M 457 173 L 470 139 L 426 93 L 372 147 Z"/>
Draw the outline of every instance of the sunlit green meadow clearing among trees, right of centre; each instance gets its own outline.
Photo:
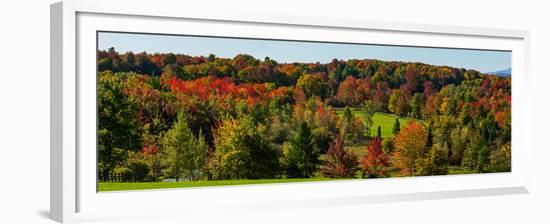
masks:
<path id="1" fill-rule="evenodd" d="M 344 108 L 335 108 L 336 114 L 338 116 L 343 116 L 344 114 Z M 361 119 L 365 118 L 365 112 L 361 108 L 351 108 L 351 112 L 355 117 L 359 117 Z M 385 137 L 393 137 L 393 123 L 395 123 L 395 118 L 398 116 L 393 114 L 387 114 L 387 113 L 380 113 L 377 112 L 374 114 L 373 121 L 374 124 L 371 128 L 371 135 L 375 135 L 378 129 L 378 126 L 382 129 L 382 138 Z M 401 130 L 409 123 L 412 119 L 405 118 L 405 117 L 399 117 L 399 124 L 401 125 Z"/>

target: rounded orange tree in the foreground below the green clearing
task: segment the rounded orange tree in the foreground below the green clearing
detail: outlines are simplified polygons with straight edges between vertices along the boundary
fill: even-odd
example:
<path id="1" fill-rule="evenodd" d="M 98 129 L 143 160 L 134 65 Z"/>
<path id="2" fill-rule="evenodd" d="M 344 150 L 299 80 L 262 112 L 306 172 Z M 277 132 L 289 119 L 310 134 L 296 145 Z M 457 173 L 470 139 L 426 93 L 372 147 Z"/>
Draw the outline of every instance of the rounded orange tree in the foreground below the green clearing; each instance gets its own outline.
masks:
<path id="1" fill-rule="evenodd" d="M 411 121 L 395 140 L 395 152 L 392 162 L 401 170 L 401 174 L 412 176 L 416 173 L 416 163 L 425 158 L 428 133 L 424 126 Z"/>

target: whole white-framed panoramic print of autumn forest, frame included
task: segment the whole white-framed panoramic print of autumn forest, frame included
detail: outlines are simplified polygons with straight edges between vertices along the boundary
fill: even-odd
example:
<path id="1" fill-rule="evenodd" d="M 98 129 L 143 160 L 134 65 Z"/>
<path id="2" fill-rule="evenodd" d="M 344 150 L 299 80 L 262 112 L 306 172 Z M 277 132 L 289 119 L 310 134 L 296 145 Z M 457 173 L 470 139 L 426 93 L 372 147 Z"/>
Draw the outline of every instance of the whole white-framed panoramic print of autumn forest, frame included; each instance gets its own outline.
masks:
<path id="1" fill-rule="evenodd" d="M 528 192 L 526 31 L 174 8 L 52 5 L 53 219 Z"/>

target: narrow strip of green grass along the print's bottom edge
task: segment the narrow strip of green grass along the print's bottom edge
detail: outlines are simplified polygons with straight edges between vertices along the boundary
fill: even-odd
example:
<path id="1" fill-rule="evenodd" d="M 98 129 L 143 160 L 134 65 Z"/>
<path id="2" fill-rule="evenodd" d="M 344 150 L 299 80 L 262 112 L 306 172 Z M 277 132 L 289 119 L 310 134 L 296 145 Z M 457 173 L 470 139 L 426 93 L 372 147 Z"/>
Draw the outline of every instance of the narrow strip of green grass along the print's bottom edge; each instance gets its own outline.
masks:
<path id="1" fill-rule="evenodd" d="M 301 178 L 301 179 L 261 179 L 261 180 L 199 180 L 182 182 L 99 182 L 99 191 L 126 191 L 126 190 L 151 190 L 166 188 L 210 187 L 246 184 L 275 184 L 293 182 L 311 182 L 338 180 L 330 178 Z"/>

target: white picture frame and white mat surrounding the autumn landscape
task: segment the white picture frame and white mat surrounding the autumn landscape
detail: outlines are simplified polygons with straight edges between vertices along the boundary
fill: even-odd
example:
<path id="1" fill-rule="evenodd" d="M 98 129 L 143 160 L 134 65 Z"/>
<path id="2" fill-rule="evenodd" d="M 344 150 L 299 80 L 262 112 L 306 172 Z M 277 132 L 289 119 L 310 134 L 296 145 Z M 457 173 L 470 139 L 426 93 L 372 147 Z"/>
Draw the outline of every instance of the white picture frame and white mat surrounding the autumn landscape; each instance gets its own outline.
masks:
<path id="1" fill-rule="evenodd" d="M 253 211 L 528 193 L 527 31 L 224 12 L 178 1 L 158 3 L 63 1 L 51 6 L 52 219 L 72 223 L 178 216 L 228 207 Z M 95 149 L 91 149 L 96 131 L 93 43 L 97 37 L 93 34 L 98 30 L 511 50 L 512 172 L 97 193 Z M 133 203 L 136 198 L 146 203 L 138 208 Z"/>

